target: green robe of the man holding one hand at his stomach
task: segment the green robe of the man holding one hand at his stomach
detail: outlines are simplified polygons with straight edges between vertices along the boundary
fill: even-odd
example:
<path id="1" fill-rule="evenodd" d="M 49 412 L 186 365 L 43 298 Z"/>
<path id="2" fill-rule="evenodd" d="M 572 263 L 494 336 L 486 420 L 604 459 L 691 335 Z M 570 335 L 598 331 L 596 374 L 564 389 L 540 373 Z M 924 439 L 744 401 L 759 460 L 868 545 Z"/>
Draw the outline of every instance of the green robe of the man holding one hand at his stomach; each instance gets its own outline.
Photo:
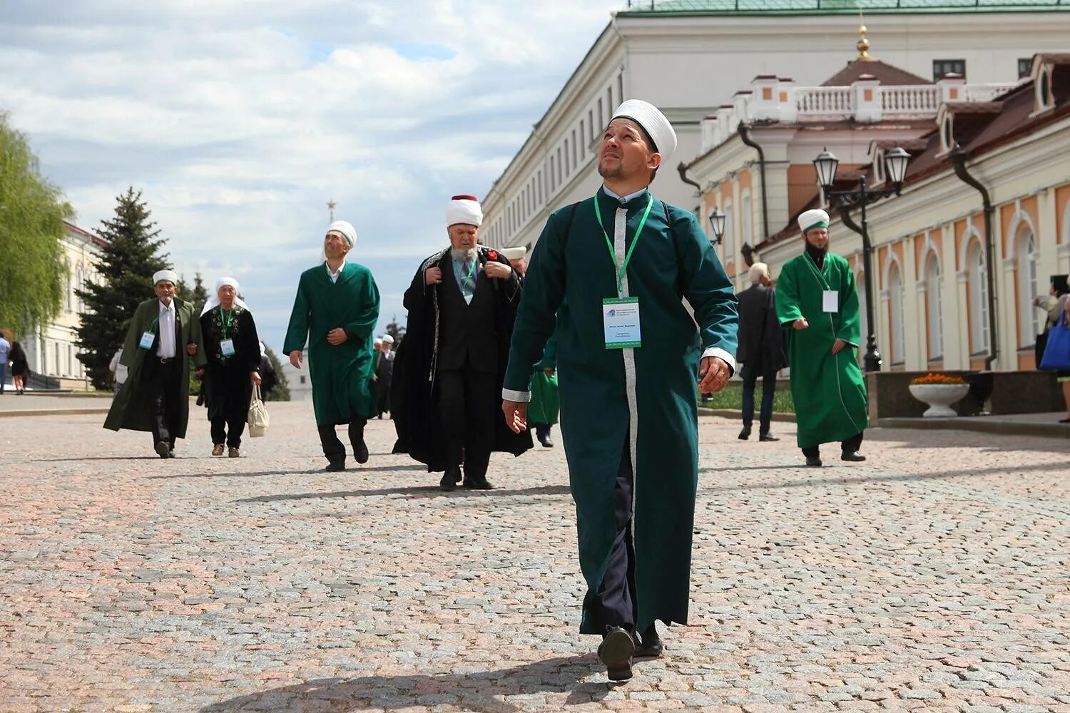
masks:
<path id="1" fill-rule="evenodd" d="M 376 415 L 371 396 L 372 331 L 379 322 L 379 289 L 371 270 L 342 264 L 335 282 L 326 264 L 306 269 L 297 282 L 282 352 L 305 347 L 317 425 L 337 425 Z M 327 332 L 346 330 L 346 341 L 333 345 Z"/>

